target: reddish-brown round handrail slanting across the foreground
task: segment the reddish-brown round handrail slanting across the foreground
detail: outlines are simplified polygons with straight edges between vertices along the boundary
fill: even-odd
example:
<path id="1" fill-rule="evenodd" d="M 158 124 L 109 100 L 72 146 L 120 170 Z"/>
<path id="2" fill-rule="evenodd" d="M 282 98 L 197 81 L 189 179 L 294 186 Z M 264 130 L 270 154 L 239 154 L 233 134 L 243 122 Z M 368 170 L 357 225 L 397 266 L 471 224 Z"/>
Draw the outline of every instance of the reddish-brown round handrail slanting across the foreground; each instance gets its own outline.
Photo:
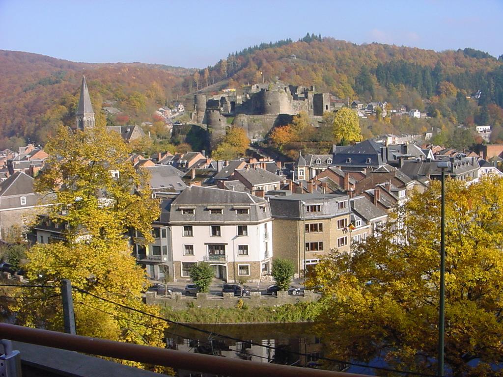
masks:
<path id="1" fill-rule="evenodd" d="M 17 340 L 47 347 L 92 355 L 132 360 L 153 365 L 171 366 L 218 375 L 256 377 L 368 377 L 363 374 L 301 368 L 298 366 L 270 364 L 257 361 L 233 359 L 220 356 L 190 353 L 173 349 L 157 348 L 139 344 L 116 342 L 87 336 L 65 334 L 56 331 L 33 329 L 0 323 L 0 338 Z M 23 355 L 21 355 L 21 359 Z"/>

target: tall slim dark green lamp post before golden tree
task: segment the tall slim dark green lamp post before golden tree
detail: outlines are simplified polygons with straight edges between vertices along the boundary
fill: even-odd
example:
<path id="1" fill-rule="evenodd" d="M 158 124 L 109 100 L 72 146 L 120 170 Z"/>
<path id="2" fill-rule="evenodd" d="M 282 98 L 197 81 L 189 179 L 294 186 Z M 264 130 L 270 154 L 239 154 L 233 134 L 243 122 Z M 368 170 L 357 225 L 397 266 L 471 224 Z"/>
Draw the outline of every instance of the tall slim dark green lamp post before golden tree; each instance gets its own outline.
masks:
<path id="1" fill-rule="evenodd" d="M 445 333 L 445 170 L 449 162 L 440 161 L 442 171 L 441 213 L 440 213 L 440 305 L 439 305 L 439 349 L 437 375 L 444 375 L 444 333 Z"/>

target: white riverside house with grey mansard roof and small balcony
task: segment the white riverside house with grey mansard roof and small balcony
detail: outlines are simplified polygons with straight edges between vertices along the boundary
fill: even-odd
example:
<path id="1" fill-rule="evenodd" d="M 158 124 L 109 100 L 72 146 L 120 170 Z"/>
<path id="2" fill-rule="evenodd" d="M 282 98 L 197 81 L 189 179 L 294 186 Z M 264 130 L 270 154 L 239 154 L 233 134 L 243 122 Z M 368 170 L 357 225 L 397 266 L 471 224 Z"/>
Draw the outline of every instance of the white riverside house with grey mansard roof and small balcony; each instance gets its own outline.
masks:
<path id="1" fill-rule="evenodd" d="M 191 186 L 171 204 L 173 277 L 189 279 L 199 261 L 225 281 L 260 281 L 271 271 L 269 203 L 247 193 Z"/>

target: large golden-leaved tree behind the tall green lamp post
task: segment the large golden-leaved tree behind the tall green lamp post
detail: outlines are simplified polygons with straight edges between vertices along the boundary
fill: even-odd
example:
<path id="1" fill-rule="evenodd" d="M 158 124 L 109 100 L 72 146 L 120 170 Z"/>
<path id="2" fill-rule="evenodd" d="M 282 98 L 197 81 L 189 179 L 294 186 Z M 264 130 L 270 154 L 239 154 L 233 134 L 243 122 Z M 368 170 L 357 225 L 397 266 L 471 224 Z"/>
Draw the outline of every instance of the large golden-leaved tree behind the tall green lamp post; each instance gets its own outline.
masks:
<path id="1" fill-rule="evenodd" d="M 454 376 L 500 375 L 503 358 L 503 178 L 446 181 L 445 361 Z M 381 228 L 316 265 L 319 332 L 329 357 L 435 370 L 440 281 L 440 182 L 414 193 L 398 229 Z M 477 360 L 477 366 L 473 361 Z M 471 362 L 472 366 L 469 366 Z"/>

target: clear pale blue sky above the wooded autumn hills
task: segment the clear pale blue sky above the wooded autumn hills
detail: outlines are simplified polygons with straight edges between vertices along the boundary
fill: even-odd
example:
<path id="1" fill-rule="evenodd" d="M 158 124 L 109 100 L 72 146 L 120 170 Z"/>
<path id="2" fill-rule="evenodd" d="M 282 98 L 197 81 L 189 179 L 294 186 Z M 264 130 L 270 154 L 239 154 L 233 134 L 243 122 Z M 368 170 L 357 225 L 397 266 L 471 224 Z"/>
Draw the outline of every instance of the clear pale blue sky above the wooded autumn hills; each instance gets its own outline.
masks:
<path id="1" fill-rule="evenodd" d="M 201 68 L 231 51 L 309 32 L 497 57 L 502 21 L 502 0 L 0 0 L 0 49 Z"/>

